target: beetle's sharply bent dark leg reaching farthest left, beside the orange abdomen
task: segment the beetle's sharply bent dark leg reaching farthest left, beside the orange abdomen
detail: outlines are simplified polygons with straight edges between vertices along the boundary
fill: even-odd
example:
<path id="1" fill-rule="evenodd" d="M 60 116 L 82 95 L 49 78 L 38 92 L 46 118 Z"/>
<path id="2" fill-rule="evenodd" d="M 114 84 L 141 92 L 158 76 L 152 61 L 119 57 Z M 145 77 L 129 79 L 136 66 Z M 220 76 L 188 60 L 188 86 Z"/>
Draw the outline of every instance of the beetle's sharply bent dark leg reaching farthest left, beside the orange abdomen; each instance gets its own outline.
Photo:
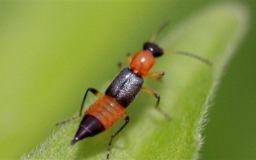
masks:
<path id="1" fill-rule="evenodd" d="M 78 114 L 78 115 L 75 115 L 75 116 L 72 117 L 72 118 L 65 119 L 65 120 L 63 120 L 63 121 L 61 121 L 61 122 L 57 122 L 57 123 L 56 123 L 57 126 L 60 125 L 60 124 L 64 124 L 64 123 L 66 123 L 66 122 L 70 122 L 70 121 L 72 121 L 72 120 L 74 120 L 74 119 L 79 118 L 79 117 L 82 116 L 84 102 L 85 102 L 85 99 L 87 98 L 87 94 L 88 94 L 89 91 L 90 91 L 92 94 L 95 94 L 95 96 L 97 96 L 98 98 L 100 98 L 100 97 L 103 95 L 102 93 L 100 93 L 100 91 L 98 91 L 98 90 L 96 90 L 96 89 L 94 89 L 94 88 L 91 88 L 91 87 L 88 88 L 88 89 L 86 90 L 84 96 L 83 96 L 83 102 L 82 102 L 82 105 L 81 105 L 81 107 L 80 107 L 79 114 Z"/>

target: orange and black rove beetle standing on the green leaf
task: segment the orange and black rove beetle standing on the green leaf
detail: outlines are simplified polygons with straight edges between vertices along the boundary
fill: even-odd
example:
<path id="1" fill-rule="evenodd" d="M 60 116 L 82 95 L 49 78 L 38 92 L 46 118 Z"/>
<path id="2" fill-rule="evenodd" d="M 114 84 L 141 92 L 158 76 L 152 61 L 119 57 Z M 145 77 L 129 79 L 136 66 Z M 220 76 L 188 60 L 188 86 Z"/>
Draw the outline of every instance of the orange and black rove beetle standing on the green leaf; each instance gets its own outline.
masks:
<path id="1" fill-rule="evenodd" d="M 130 105 L 136 95 L 140 90 L 144 90 L 146 93 L 157 98 L 156 109 L 160 111 L 166 118 L 171 119 L 170 115 L 164 110 L 158 107 L 160 102 L 160 95 L 155 91 L 148 89 L 143 86 L 144 78 L 161 78 L 164 76 L 164 72 L 149 72 L 149 70 L 155 64 L 155 58 L 159 58 L 164 54 L 164 50 L 157 46 L 154 41 L 161 30 L 167 26 L 169 22 L 165 23 L 156 33 L 152 36 L 150 42 L 145 42 L 143 45 L 143 50 L 138 51 L 133 57 L 128 54 L 128 62 L 130 67 L 124 67 L 123 64 L 119 64 L 120 74 L 112 81 L 108 89 L 104 94 L 100 93 L 94 88 L 88 88 L 84 94 L 83 102 L 79 110 L 79 115 L 73 118 L 67 119 L 63 122 L 57 123 L 57 125 L 71 121 L 72 119 L 82 116 L 84 102 L 87 98 L 87 93 L 90 91 L 92 94 L 98 97 L 86 111 L 83 116 L 82 121 L 79 124 L 79 129 L 77 130 L 75 137 L 71 141 L 71 145 L 82 140 L 83 138 L 91 137 L 96 134 L 100 134 L 104 130 L 114 125 L 120 118 L 124 118 L 124 125 L 112 134 L 110 141 L 108 143 L 108 152 L 106 159 L 109 159 L 111 145 L 113 138 L 120 133 L 121 130 L 129 122 L 129 116 L 125 110 L 126 107 Z M 201 58 L 195 54 L 190 54 L 186 52 L 175 52 L 176 54 L 183 54 L 190 56 L 192 58 L 197 58 L 201 62 L 205 62 L 209 66 L 211 63 L 205 59 Z"/>

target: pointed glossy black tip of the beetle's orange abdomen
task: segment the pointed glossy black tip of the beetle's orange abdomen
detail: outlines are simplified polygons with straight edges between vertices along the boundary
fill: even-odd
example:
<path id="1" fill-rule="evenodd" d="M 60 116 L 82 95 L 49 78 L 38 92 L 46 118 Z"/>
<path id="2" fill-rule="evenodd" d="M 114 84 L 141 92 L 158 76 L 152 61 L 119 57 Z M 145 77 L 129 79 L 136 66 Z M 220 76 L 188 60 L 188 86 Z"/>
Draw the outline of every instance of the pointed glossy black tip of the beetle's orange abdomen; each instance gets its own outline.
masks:
<path id="1" fill-rule="evenodd" d="M 103 124 L 94 116 L 86 114 L 83 120 L 80 122 L 79 129 L 77 130 L 74 139 L 71 141 L 71 145 L 75 142 L 82 140 L 83 138 L 94 136 L 104 131 Z"/>

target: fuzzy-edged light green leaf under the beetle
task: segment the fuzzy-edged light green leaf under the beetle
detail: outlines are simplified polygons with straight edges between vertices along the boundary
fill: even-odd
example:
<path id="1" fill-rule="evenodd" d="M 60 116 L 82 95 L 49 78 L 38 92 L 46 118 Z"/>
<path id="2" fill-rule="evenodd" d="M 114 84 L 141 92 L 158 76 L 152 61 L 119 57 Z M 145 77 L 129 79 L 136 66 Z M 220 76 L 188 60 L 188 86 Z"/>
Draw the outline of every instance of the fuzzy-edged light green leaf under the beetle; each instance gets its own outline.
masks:
<path id="1" fill-rule="evenodd" d="M 221 3 L 199 10 L 164 32 L 160 46 L 166 50 L 153 70 L 165 70 L 161 82 L 149 81 L 161 94 L 160 107 L 173 119 L 155 109 L 156 99 L 140 94 L 128 108 L 130 123 L 112 143 L 112 159 L 194 159 L 198 157 L 209 106 L 213 102 L 221 74 L 247 28 L 246 8 Z M 196 53 L 213 62 L 206 66 L 193 58 L 172 55 L 168 50 Z M 107 87 L 106 85 L 104 88 Z M 95 98 L 89 96 L 87 104 Z M 23 159 L 104 159 L 111 134 L 124 123 L 70 146 L 80 119 L 56 130 Z"/>

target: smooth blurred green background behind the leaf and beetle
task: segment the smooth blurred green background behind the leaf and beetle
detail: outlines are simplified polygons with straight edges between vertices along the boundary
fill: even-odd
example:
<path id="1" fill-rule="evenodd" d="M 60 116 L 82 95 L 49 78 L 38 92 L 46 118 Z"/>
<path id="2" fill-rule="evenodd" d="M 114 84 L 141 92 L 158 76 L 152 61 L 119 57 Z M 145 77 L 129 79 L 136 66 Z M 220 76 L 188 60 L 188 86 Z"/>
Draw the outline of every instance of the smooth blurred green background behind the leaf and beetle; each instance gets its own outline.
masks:
<path id="1" fill-rule="evenodd" d="M 20 158 L 55 122 L 79 110 L 166 19 L 175 26 L 214 3 L 238 3 L 249 30 L 226 67 L 206 126 L 201 158 L 256 158 L 256 2 L 0 2 L 0 158 Z M 182 49 L 181 49 L 182 50 Z M 108 67 L 106 67 L 108 66 Z M 103 90 L 102 90 L 103 91 Z"/>

